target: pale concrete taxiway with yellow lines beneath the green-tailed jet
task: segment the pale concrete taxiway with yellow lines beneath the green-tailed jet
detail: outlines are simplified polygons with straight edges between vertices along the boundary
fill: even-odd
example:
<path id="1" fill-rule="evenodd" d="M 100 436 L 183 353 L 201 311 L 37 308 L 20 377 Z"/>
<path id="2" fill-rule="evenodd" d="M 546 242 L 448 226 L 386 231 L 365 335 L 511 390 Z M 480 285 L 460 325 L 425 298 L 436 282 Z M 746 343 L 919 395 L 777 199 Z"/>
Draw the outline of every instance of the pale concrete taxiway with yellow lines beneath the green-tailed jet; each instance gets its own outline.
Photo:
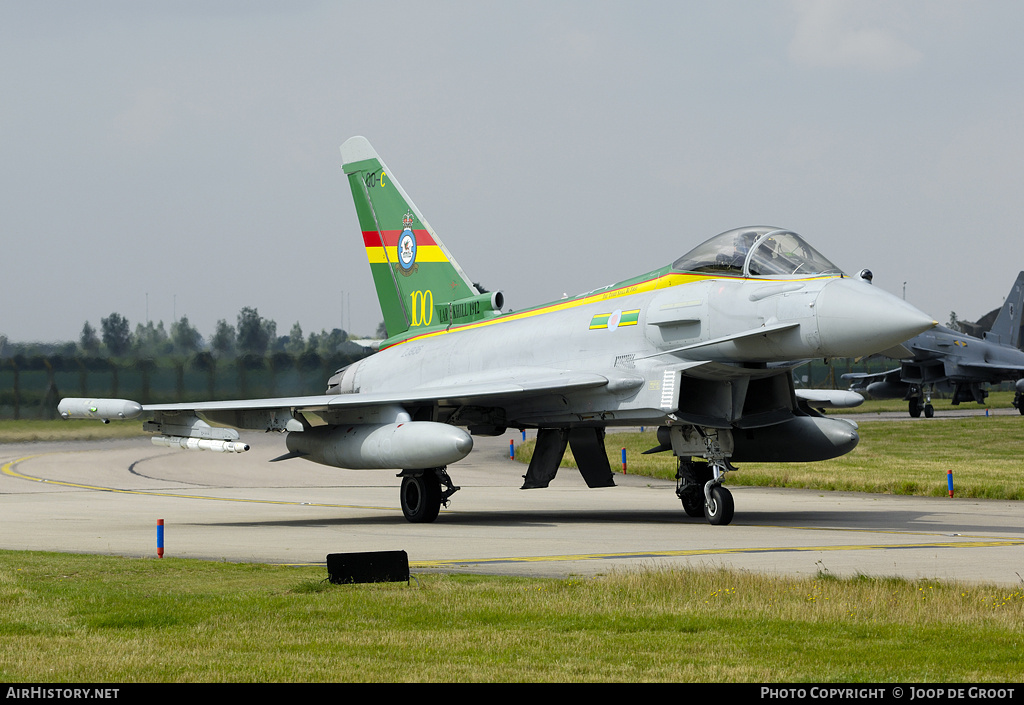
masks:
<path id="1" fill-rule="evenodd" d="M 324 564 L 328 553 L 406 550 L 414 571 L 594 575 L 681 566 L 1020 585 L 1020 502 L 732 487 L 736 514 L 709 526 L 673 483 L 615 475 L 588 489 L 562 469 L 519 490 L 518 436 L 476 439 L 450 468 L 462 489 L 438 520 L 406 522 L 394 472 L 292 459 L 275 434 L 242 455 L 146 439 L 0 445 L 0 547 L 231 562 Z M 741 472 L 736 480 L 741 481 Z"/>

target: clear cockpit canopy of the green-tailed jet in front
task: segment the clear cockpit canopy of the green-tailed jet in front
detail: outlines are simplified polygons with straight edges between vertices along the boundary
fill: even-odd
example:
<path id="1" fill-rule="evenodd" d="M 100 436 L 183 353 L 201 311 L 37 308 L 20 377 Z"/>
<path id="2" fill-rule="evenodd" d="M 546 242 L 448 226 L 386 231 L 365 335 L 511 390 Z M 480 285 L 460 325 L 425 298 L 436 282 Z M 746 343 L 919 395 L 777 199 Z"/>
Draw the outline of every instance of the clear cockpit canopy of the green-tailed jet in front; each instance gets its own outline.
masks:
<path id="1" fill-rule="evenodd" d="M 716 235 L 673 262 L 672 268 L 743 277 L 842 274 L 793 231 L 767 225 Z"/>

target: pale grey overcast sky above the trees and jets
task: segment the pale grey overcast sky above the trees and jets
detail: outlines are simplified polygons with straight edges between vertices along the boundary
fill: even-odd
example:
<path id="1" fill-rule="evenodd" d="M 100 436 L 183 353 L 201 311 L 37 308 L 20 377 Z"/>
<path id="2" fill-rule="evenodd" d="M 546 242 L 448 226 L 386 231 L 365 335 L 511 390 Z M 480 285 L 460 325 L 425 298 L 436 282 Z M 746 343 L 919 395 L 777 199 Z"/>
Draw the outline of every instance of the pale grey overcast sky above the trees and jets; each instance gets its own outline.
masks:
<path id="1" fill-rule="evenodd" d="M 801 233 L 945 323 L 1024 269 L 1024 3 L 0 0 L 0 334 L 381 321 L 366 136 L 520 308 Z"/>

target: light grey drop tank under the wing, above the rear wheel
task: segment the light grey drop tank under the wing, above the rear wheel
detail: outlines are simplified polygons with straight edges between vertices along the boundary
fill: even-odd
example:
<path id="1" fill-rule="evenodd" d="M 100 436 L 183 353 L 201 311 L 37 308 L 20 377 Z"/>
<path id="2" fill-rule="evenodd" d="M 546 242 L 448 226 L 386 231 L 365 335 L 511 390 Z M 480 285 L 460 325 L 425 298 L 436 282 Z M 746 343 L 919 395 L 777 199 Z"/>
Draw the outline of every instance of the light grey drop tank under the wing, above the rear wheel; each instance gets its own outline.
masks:
<path id="1" fill-rule="evenodd" d="M 288 434 L 288 450 L 332 467 L 444 467 L 473 450 L 473 438 L 435 421 L 319 426 Z"/>

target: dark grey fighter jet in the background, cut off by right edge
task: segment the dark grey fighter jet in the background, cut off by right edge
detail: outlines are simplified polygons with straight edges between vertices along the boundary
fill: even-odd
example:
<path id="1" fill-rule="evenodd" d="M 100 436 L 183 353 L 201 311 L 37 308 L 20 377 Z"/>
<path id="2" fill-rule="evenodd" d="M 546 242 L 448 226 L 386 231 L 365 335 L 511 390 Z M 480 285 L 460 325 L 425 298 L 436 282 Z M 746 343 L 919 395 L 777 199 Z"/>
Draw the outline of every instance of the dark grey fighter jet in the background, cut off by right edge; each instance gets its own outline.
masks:
<path id="1" fill-rule="evenodd" d="M 894 370 L 878 373 L 847 373 L 852 390 L 865 391 L 877 399 L 902 399 L 910 416 L 935 415 L 932 395 L 936 390 L 952 393 L 952 403 L 977 402 L 988 397 L 987 384 L 1013 381 L 1017 393 L 1013 405 L 1024 414 L 1024 351 L 1021 344 L 1021 312 L 1024 309 L 1024 272 L 1010 289 L 992 329 L 984 338 L 976 338 L 938 326 L 886 350 L 900 359 Z"/>

